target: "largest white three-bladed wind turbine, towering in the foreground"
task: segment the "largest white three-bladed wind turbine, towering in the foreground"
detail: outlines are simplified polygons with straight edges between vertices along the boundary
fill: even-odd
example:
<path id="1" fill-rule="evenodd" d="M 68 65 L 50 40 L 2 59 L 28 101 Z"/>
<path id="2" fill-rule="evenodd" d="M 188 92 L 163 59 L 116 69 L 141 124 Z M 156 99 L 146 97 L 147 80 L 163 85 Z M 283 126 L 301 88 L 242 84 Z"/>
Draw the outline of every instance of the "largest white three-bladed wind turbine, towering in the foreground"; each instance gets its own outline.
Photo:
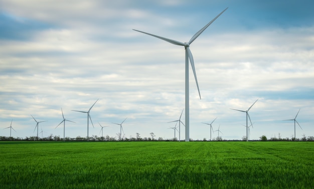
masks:
<path id="1" fill-rule="evenodd" d="M 167 41 L 171 44 L 174 45 L 179 45 L 179 46 L 184 46 L 185 48 L 185 107 L 186 107 L 186 111 L 185 111 L 185 123 L 186 123 L 186 139 L 185 141 L 190 141 L 190 102 L 189 102 L 189 59 L 191 62 L 191 66 L 192 66 L 192 70 L 193 70 L 193 74 L 194 74 L 194 78 L 196 81 L 196 86 L 197 86 L 197 90 L 199 92 L 200 95 L 200 99 L 201 99 L 201 93 L 200 93 L 200 89 L 199 89 L 199 84 L 197 82 L 197 77 L 196 77 L 196 72 L 195 72 L 195 67 L 194 67 L 194 59 L 190 50 L 190 45 L 192 44 L 192 42 L 199 37 L 199 35 L 201 35 L 204 30 L 207 29 L 207 27 L 209 27 L 209 25 L 211 25 L 221 14 L 223 14 L 228 8 L 226 8 L 224 11 L 222 11 L 217 17 L 215 17 L 211 22 L 209 22 L 206 26 L 204 26 L 200 31 L 198 31 L 191 39 L 188 43 L 183 43 L 183 42 L 179 42 L 176 40 L 172 40 L 172 39 L 168 39 L 168 38 L 164 38 L 161 36 L 156 36 L 153 34 L 149 34 L 146 32 L 142 32 L 139 30 L 134 30 L 136 32 L 140 32 L 143 34 L 147 34 L 149 36 L 155 37 L 155 38 L 159 38 L 161 40 Z"/>

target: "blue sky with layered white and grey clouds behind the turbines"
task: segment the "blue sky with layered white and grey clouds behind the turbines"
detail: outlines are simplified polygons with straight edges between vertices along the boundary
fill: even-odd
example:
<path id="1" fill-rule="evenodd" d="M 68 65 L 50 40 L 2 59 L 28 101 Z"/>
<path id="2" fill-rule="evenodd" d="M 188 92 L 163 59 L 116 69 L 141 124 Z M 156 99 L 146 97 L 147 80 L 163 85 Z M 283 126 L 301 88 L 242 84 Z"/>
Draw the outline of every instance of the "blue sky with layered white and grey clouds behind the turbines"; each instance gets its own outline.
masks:
<path id="1" fill-rule="evenodd" d="M 133 31 L 188 42 L 190 138 L 314 136 L 314 3 L 301 1 L 0 0 L 0 136 L 171 139 L 185 108 L 185 51 Z M 31 116 L 32 115 L 32 116 Z M 185 113 L 182 115 L 185 121 Z M 94 127 L 93 127 L 94 126 Z M 178 128 L 179 129 L 179 128 Z M 212 137 L 217 137 L 217 131 Z M 179 137 L 177 132 L 176 137 Z M 184 126 L 181 139 L 185 138 Z"/>

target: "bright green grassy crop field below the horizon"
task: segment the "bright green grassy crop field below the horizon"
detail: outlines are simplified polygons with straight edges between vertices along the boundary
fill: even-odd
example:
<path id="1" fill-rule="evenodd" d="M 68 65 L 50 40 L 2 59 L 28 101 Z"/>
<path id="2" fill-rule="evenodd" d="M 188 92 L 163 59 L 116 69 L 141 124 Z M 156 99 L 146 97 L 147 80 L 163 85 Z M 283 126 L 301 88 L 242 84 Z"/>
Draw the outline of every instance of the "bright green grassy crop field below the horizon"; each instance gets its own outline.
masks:
<path id="1" fill-rule="evenodd" d="M 314 188 L 314 142 L 0 142 L 0 188 Z"/>

